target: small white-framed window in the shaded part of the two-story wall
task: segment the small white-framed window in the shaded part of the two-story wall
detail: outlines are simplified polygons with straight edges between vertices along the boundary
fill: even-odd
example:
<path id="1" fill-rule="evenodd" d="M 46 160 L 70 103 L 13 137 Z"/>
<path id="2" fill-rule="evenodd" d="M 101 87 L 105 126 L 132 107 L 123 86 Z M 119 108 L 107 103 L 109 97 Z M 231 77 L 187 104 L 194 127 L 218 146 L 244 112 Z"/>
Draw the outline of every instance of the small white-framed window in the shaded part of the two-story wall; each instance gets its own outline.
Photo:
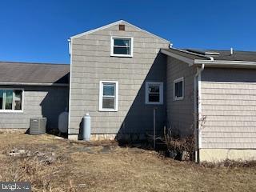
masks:
<path id="1" fill-rule="evenodd" d="M 163 102 L 163 83 L 146 82 L 146 104 L 162 104 Z"/>

